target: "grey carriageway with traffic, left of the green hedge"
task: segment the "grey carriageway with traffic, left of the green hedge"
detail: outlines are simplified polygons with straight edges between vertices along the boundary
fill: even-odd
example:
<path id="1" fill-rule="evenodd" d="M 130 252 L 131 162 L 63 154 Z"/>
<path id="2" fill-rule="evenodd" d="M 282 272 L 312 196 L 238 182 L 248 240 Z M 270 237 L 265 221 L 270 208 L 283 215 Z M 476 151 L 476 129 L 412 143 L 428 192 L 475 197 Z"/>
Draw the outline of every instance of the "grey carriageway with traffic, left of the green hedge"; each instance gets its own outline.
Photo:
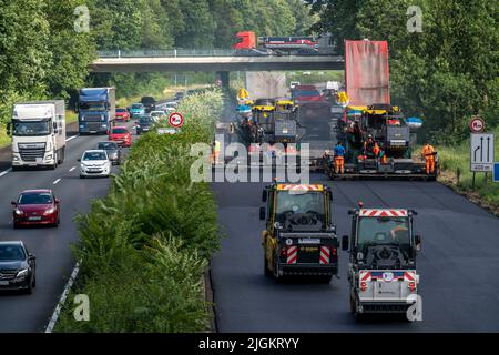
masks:
<path id="1" fill-rule="evenodd" d="M 41 332 L 48 324 L 74 266 L 71 243 L 78 233 L 72 220 L 88 211 L 91 199 L 104 196 L 110 183 L 109 179 L 80 179 L 77 160 L 84 150 L 105 140 L 106 135 L 77 136 L 67 143 L 65 161 L 57 170 L 16 171 L 0 178 L 0 241 L 23 240 L 37 255 L 34 293 L 0 293 L 0 332 Z M 53 189 L 61 199 L 60 226 L 13 230 L 10 201 L 20 191 L 37 187 Z"/>

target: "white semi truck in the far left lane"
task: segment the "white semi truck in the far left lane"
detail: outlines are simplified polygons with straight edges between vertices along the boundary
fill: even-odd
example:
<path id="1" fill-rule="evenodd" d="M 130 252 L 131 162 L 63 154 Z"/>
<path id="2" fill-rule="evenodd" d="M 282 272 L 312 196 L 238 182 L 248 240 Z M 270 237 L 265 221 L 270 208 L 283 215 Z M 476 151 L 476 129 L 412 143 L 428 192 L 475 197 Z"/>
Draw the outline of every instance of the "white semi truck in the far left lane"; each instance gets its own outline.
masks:
<path id="1" fill-rule="evenodd" d="M 12 170 L 23 166 L 55 169 L 64 161 L 63 100 L 16 103 L 7 131 L 12 134 Z"/>

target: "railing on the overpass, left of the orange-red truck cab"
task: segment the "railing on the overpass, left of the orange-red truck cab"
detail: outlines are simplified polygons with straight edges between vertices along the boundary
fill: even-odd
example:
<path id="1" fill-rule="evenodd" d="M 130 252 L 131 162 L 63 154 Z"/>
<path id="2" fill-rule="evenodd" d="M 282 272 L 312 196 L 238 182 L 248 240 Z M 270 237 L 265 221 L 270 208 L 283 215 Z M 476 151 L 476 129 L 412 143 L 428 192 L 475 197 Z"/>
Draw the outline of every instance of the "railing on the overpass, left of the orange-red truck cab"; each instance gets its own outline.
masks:
<path id="1" fill-rule="evenodd" d="M 232 49 L 172 49 L 172 50 L 133 50 L 133 51 L 98 51 L 99 58 L 182 58 L 182 57 L 232 57 Z"/>

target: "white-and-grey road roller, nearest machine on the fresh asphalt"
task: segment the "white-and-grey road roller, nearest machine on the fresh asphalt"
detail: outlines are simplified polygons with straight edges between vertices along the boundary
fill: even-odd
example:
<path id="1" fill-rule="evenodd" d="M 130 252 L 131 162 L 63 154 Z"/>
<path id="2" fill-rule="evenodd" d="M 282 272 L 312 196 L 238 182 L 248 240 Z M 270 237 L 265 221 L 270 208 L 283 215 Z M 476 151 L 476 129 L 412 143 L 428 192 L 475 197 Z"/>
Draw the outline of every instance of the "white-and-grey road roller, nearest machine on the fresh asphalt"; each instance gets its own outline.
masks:
<path id="1" fill-rule="evenodd" d="M 419 293 L 416 255 L 421 237 L 413 230 L 417 213 L 365 209 L 359 203 L 348 214 L 352 232 L 342 237 L 342 248 L 349 250 L 350 312 L 356 318 L 368 313 L 407 314 Z M 420 307 L 417 312 L 420 314 Z"/>

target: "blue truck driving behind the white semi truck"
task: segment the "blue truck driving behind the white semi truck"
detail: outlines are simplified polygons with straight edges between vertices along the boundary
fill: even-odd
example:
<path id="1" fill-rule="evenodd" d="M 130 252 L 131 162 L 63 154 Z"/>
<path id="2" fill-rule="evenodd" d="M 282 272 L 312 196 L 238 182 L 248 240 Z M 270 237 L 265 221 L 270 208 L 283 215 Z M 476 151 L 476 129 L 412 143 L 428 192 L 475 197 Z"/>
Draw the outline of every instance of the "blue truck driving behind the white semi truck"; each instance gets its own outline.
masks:
<path id="1" fill-rule="evenodd" d="M 80 134 L 108 134 L 116 116 L 114 88 L 80 90 L 78 126 Z"/>

